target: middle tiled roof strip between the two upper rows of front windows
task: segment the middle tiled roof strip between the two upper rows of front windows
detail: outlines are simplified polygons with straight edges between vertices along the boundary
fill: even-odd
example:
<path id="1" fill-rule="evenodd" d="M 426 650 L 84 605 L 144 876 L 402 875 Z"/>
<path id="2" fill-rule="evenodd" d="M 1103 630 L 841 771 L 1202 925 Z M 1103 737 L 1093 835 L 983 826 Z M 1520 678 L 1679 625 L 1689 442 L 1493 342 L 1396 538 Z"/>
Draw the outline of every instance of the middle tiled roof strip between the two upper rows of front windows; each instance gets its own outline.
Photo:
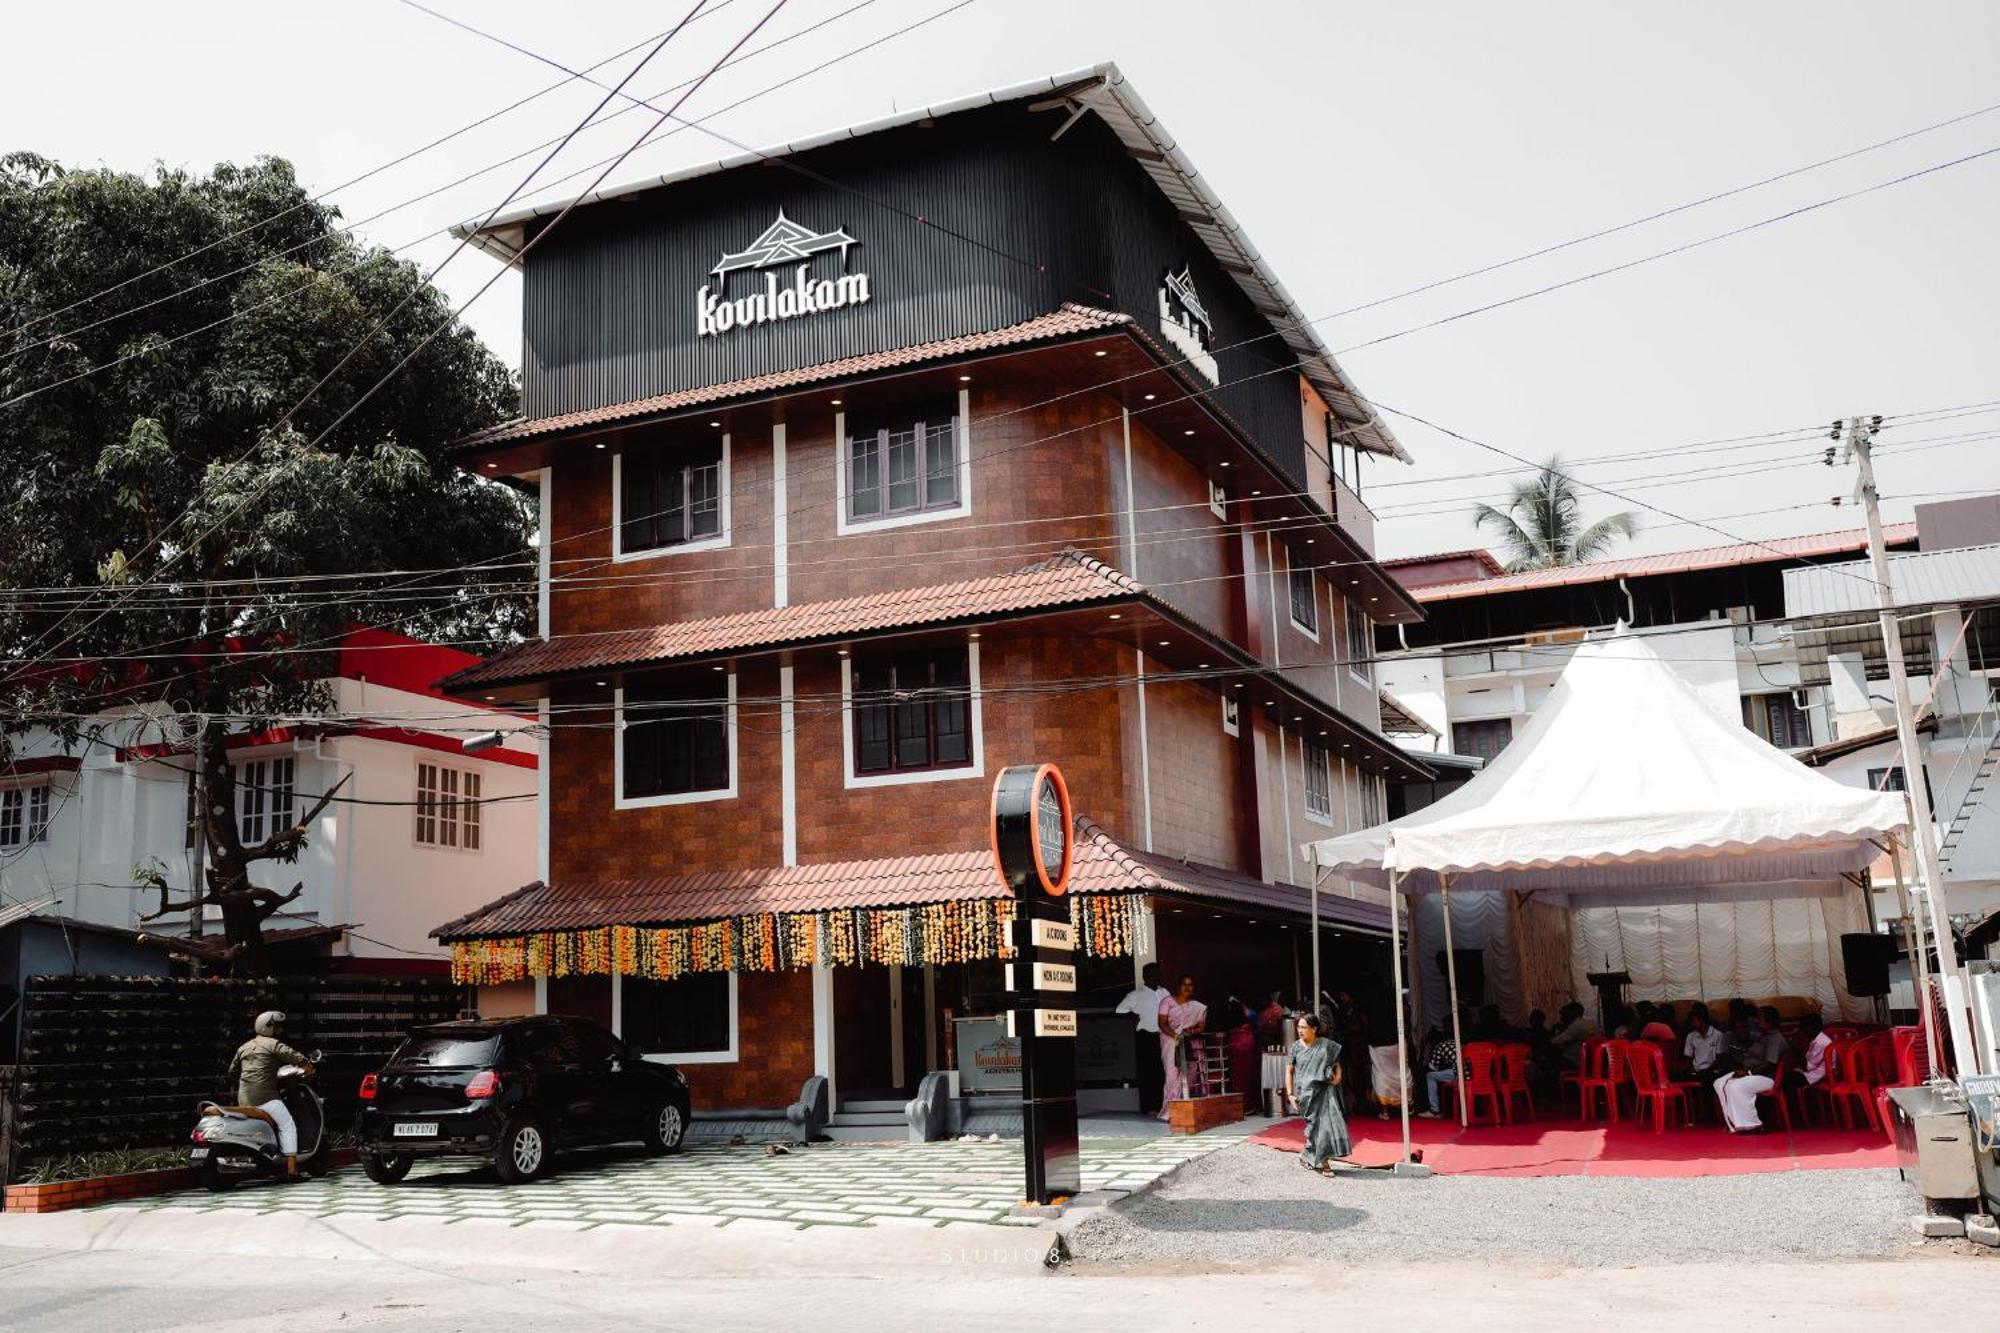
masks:
<path id="1" fill-rule="evenodd" d="M 710 652 L 742 652 L 916 624 L 1046 610 L 1128 598 L 1144 590 L 1132 578 L 1072 548 L 1012 574 L 528 642 L 460 671 L 444 681 L 444 689 L 544 681 L 572 671 L 610 671 Z"/>

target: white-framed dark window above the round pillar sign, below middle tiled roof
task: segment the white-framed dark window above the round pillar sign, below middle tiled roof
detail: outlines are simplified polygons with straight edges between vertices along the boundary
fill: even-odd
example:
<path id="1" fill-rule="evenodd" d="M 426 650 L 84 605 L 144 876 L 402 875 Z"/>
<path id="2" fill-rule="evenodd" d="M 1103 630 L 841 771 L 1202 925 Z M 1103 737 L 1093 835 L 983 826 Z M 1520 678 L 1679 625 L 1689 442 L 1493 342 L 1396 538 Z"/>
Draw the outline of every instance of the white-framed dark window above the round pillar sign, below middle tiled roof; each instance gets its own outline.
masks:
<path id="1" fill-rule="evenodd" d="M 972 673 L 964 646 L 854 664 L 854 771 L 972 765 Z"/>

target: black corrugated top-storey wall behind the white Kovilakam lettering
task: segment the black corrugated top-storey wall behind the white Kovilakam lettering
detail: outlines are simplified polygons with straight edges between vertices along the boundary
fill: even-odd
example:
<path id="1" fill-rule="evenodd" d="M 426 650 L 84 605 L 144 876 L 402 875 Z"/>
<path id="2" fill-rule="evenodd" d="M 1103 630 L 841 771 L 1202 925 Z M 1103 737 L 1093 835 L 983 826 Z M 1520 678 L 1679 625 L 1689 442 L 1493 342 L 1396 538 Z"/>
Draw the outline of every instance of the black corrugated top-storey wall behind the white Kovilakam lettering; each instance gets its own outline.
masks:
<path id="1" fill-rule="evenodd" d="M 1228 348 L 1214 402 L 1304 482 L 1298 388 L 1284 372 L 1294 362 L 1270 322 L 1104 122 L 1086 116 L 1052 144 L 1058 124 L 1024 104 L 984 108 L 792 158 L 824 182 L 752 164 L 576 210 L 526 264 L 528 416 L 1002 328 L 1064 300 L 1124 310 L 1166 346 L 1160 278 L 1192 264 L 1214 342 Z M 710 268 L 780 208 L 814 230 L 844 226 L 860 242 L 848 272 L 868 274 L 872 300 L 698 336 Z M 772 272 L 786 282 L 792 268 Z M 812 272 L 836 276 L 838 256 L 816 256 Z M 762 272 L 740 272 L 728 292 L 760 284 Z M 1230 346 L 1246 338 L 1262 340 Z"/>

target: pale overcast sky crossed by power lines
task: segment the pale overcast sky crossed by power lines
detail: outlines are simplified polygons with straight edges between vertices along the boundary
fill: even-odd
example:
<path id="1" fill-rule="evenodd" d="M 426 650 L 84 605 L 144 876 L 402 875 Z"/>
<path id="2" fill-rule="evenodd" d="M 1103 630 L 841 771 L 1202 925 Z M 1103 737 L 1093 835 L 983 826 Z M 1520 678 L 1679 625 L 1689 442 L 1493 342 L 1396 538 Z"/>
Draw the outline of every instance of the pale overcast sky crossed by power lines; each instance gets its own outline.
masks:
<path id="1" fill-rule="evenodd" d="M 634 88 L 654 96 L 692 78 L 770 2 L 710 0 L 718 12 L 690 26 Z M 2000 104 L 2000 4 L 1984 0 L 970 0 L 800 76 L 954 2 L 790 0 L 746 50 L 832 22 L 724 70 L 686 114 L 762 92 L 718 114 L 714 128 L 766 146 L 1116 60 L 1304 312 L 1320 318 Z M 666 30 L 688 4 L 434 0 L 572 66 Z M 844 10 L 854 12 L 836 18 Z M 630 62 L 608 68 L 622 74 Z M 0 148 L 122 170 L 206 170 L 268 152 L 290 158 L 316 192 L 560 78 L 392 0 L 22 6 L 8 16 L 4 66 Z M 576 84 L 542 96 L 338 190 L 334 202 L 350 222 L 368 218 L 566 132 L 598 96 Z M 620 152 L 648 118 L 580 136 L 542 180 Z M 1996 146 L 2000 106 L 1320 330 L 1330 346 L 1356 348 L 1342 364 L 1374 400 L 1534 458 L 2000 400 L 2000 154 L 1390 336 Z M 636 152 L 614 180 L 732 152 L 684 130 Z M 450 242 L 420 238 L 492 208 L 534 160 L 372 220 L 362 234 L 438 264 Z M 574 192 L 592 174 L 542 198 Z M 466 252 L 438 282 L 466 300 L 492 272 L 492 260 Z M 518 364 L 512 276 L 466 318 Z M 1378 338 L 1388 340 L 1356 346 Z M 1388 420 L 1416 466 L 1370 468 L 1382 552 L 1476 544 L 1466 508 L 1496 498 L 1504 476 L 1466 474 L 1506 460 Z M 1892 422 L 1880 462 L 1890 516 L 1908 516 L 1922 492 L 2000 490 L 2000 438 L 1944 440 L 1978 432 L 2000 436 L 2000 410 Z M 1818 444 L 1750 442 L 1578 474 L 1642 502 L 1640 550 L 1726 540 L 1718 528 L 1756 538 L 1852 526 L 1852 510 L 1824 504 L 1852 478 L 1818 466 Z M 1680 484 L 1658 476 L 1692 466 L 1738 474 Z M 1620 478 L 1638 480 L 1626 488 Z M 1792 504 L 1814 508 L 1760 512 Z M 1620 504 L 1596 496 L 1590 508 Z"/>

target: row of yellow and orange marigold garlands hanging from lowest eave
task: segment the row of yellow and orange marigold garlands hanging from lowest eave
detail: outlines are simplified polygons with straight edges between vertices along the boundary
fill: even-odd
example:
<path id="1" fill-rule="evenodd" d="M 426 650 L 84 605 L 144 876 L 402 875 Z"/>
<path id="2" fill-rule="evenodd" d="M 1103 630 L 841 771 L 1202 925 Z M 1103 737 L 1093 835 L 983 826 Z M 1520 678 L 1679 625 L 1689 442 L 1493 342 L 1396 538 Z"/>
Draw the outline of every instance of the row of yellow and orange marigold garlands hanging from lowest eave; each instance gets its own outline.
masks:
<path id="1" fill-rule="evenodd" d="M 1080 953 L 1132 953 L 1136 895 L 1070 895 Z M 680 927 L 590 927 L 452 943 L 452 981 L 496 985 L 528 977 L 650 977 L 770 973 L 794 967 L 890 963 L 924 967 L 1012 957 L 1012 899 L 920 907 L 758 913 Z"/>

